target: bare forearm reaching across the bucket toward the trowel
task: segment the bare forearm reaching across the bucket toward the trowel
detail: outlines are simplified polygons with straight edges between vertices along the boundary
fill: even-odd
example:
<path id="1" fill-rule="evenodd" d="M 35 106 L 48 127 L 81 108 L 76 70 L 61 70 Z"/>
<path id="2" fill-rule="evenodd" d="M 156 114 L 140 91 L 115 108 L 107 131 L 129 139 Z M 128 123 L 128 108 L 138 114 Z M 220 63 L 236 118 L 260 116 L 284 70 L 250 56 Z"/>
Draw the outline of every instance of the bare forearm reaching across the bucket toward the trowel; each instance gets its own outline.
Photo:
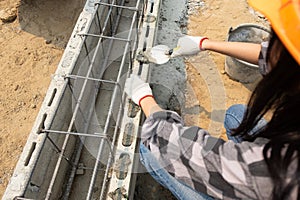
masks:
<path id="1" fill-rule="evenodd" d="M 217 42 L 205 40 L 202 43 L 202 48 L 235 57 L 252 64 L 258 64 L 261 45 L 246 42 Z"/>

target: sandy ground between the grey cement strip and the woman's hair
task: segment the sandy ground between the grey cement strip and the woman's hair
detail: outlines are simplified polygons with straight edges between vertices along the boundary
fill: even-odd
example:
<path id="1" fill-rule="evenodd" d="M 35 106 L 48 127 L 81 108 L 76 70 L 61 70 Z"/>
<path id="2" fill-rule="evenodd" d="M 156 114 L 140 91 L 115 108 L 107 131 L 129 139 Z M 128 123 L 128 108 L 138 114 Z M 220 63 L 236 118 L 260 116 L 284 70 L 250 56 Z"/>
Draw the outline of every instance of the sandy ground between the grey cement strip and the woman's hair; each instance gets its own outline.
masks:
<path id="1" fill-rule="evenodd" d="M 189 17 L 188 34 L 206 36 L 212 40 L 224 41 L 227 39 L 228 31 L 231 27 L 235 28 L 245 23 L 268 26 L 263 18 L 259 17 L 257 13 L 254 13 L 249 8 L 246 0 L 204 0 L 204 2 L 200 2 L 198 11 L 192 12 L 192 15 Z M 213 70 L 215 67 L 218 69 L 218 76 L 216 78 L 219 79 L 218 82 L 220 84 L 223 84 L 221 91 L 224 90 L 224 99 L 226 102 L 223 103 L 222 109 L 217 110 L 217 112 L 224 113 L 226 108 L 233 104 L 247 103 L 255 83 L 241 84 L 230 79 L 224 69 L 224 55 L 214 52 L 201 52 L 200 55 L 186 60 L 188 83 L 192 86 L 200 105 L 198 125 L 202 128 L 210 129 L 210 118 L 212 112 L 216 111 L 213 109 L 214 105 L 212 105 L 211 98 L 212 94 L 216 95 L 216 92 L 210 91 L 210 83 L 208 83 L 206 77 L 207 71 L 201 71 L 203 69 L 203 62 L 207 65 L 204 67 L 210 68 L 209 70 Z M 223 110 L 224 107 L 225 110 Z M 220 121 L 217 125 L 219 127 L 220 125 L 222 126 L 223 121 Z M 226 139 L 224 128 L 212 129 L 212 132 L 216 136 Z"/>

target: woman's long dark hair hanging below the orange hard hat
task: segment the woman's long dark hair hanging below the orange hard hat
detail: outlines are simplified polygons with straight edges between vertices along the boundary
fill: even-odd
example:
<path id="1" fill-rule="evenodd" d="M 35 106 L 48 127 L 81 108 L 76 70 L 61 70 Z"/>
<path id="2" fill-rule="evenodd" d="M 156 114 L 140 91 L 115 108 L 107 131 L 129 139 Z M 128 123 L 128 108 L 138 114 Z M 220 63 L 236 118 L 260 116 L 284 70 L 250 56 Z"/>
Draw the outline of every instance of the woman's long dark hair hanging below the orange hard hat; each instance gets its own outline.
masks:
<path id="1" fill-rule="evenodd" d="M 273 32 L 267 62 L 272 70 L 253 91 L 242 123 L 234 131 L 246 141 L 269 139 L 263 150 L 273 179 L 273 199 L 300 197 L 300 66 Z M 271 113 L 268 124 L 251 135 L 257 122 Z"/>

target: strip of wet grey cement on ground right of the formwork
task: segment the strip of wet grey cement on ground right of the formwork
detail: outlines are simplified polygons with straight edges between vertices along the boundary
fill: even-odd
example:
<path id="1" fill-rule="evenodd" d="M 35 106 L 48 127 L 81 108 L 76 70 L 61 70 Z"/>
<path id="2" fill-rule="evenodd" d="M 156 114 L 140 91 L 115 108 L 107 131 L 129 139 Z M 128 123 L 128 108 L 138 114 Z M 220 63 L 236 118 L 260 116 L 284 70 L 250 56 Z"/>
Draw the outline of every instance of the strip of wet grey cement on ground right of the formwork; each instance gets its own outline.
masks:
<path id="1" fill-rule="evenodd" d="M 187 3 L 179 0 L 162 1 L 155 45 L 176 47 L 178 38 L 186 33 L 186 25 Z M 152 65 L 150 81 L 157 102 L 165 109 L 180 113 L 186 88 L 183 58 L 171 58 L 166 64 Z"/>

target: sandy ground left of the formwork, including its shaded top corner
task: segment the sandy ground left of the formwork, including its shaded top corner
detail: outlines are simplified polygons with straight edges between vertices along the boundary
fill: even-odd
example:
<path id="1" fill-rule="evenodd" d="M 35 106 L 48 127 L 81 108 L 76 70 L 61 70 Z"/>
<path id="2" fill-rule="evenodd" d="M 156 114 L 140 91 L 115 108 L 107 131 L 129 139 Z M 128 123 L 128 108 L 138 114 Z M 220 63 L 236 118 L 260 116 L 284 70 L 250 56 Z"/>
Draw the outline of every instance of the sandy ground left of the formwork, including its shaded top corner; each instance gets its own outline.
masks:
<path id="1" fill-rule="evenodd" d="M 0 196 L 3 195 L 85 1 L 1 0 Z"/>

